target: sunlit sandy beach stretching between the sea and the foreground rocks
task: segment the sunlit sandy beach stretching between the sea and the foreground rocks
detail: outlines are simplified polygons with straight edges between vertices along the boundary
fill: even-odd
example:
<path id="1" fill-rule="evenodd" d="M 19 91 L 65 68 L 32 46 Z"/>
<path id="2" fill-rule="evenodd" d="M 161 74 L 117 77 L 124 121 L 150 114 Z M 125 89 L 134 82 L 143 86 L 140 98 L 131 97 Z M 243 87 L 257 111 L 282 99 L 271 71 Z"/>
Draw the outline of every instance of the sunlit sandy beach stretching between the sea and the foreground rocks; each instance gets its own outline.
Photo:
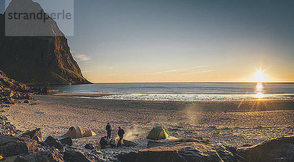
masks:
<path id="1" fill-rule="evenodd" d="M 212 143 L 228 146 L 256 144 L 282 135 L 294 134 L 294 101 L 223 101 L 175 102 L 128 101 L 78 97 L 78 93 L 35 95 L 30 104 L 18 104 L 6 114 L 17 129 L 42 128 L 49 135 L 65 134 L 71 126 L 90 127 L 97 136 L 74 139 L 83 148 L 106 135 L 110 122 L 116 135 L 119 126 L 126 130 L 125 139 L 137 142 L 135 148 L 115 151 L 137 151 L 147 145 L 146 136 L 158 124 L 178 138 L 207 137 Z M 109 94 L 83 94 L 83 96 Z"/>

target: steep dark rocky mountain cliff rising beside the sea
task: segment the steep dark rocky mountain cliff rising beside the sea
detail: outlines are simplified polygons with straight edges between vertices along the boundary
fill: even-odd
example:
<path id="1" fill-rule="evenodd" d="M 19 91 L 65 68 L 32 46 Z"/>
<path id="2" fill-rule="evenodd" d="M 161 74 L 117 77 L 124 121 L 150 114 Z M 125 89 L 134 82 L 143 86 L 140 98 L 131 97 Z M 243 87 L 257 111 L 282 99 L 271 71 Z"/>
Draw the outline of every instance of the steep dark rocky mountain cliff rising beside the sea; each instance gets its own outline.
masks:
<path id="1" fill-rule="evenodd" d="M 32 0 L 12 0 L 4 14 L 21 8 L 20 12 L 39 12 L 42 7 Z M 44 11 L 44 10 L 43 10 Z M 7 26 L 6 26 L 7 27 Z M 5 36 L 5 15 L 0 14 L 0 70 L 9 78 L 27 84 L 90 83 L 73 59 L 67 39 L 56 22 L 11 25 L 15 35 L 42 33 L 49 36 Z"/>

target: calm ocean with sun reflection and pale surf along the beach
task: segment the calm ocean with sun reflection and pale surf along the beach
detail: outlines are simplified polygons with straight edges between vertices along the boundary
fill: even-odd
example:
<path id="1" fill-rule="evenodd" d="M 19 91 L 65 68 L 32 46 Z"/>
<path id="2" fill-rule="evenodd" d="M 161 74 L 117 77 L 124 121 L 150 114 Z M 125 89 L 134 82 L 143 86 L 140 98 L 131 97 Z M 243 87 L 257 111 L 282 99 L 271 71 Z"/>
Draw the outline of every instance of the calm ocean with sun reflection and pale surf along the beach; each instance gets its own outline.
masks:
<path id="1" fill-rule="evenodd" d="M 94 83 L 49 85 L 49 88 L 52 92 L 110 93 L 112 95 L 98 97 L 97 99 L 117 100 L 240 101 L 294 99 L 294 83 Z"/>

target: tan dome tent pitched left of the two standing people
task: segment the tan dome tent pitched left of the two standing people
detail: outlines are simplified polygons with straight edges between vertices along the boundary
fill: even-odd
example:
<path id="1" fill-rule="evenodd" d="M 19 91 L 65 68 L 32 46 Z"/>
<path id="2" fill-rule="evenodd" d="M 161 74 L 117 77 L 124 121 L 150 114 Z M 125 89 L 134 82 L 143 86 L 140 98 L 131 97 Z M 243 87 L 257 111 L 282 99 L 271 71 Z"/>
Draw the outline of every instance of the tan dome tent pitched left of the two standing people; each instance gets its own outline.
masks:
<path id="1" fill-rule="evenodd" d="M 83 127 L 71 127 L 69 131 L 62 135 L 61 137 L 72 137 L 72 138 L 83 138 L 87 136 L 94 136 L 96 135 L 90 128 L 83 128 Z"/>

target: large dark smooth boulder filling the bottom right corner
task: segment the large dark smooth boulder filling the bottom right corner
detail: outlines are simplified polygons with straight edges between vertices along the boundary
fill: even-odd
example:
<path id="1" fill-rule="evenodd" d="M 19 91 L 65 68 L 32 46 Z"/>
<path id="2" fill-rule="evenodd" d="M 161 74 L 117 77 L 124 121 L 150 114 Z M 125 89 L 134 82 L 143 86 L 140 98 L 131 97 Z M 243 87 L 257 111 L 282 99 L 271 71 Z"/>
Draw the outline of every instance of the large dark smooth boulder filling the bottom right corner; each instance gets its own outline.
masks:
<path id="1" fill-rule="evenodd" d="M 250 162 L 294 161 L 294 135 L 270 139 L 237 149 L 237 154 Z"/>

